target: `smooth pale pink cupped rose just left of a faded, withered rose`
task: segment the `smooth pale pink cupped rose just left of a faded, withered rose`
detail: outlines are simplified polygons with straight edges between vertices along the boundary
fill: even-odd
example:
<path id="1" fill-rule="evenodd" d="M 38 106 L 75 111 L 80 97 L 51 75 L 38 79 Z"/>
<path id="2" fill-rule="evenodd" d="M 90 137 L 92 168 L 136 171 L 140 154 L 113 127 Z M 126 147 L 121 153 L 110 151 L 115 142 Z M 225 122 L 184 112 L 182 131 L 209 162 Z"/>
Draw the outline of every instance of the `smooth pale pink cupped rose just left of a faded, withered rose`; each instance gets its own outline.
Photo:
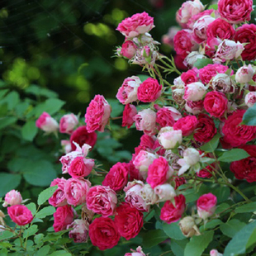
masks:
<path id="1" fill-rule="evenodd" d="M 186 101 L 198 102 L 206 94 L 206 87 L 201 82 L 189 83 L 185 88 L 183 98 Z"/>

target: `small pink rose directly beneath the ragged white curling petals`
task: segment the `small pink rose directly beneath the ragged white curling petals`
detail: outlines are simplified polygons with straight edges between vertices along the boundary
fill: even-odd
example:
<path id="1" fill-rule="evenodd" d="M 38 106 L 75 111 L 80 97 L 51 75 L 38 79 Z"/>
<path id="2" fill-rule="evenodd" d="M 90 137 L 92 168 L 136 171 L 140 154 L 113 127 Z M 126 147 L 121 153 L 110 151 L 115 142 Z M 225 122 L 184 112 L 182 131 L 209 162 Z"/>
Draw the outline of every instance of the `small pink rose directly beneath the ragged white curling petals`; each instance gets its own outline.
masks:
<path id="1" fill-rule="evenodd" d="M 69 175 L 72 178 L 82 178 L 88 176 L 94 167 L 94 159 L 85 159 L 77 156 L 69 165 Z"/>

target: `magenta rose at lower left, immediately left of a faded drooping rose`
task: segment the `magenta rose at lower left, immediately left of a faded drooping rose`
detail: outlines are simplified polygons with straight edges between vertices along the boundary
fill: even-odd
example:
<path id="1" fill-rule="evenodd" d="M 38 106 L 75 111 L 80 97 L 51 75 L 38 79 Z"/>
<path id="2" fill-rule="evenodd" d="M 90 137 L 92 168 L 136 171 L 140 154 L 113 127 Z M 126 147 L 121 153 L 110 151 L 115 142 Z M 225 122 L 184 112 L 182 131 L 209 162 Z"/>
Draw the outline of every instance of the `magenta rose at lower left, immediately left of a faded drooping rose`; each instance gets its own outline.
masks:
<path id="1" fill-rule="evenodd" d="M 54 213 L 55 232 L 65 230 L 73 222 L 73 208 L 71 206 L 58 207 Z"/>

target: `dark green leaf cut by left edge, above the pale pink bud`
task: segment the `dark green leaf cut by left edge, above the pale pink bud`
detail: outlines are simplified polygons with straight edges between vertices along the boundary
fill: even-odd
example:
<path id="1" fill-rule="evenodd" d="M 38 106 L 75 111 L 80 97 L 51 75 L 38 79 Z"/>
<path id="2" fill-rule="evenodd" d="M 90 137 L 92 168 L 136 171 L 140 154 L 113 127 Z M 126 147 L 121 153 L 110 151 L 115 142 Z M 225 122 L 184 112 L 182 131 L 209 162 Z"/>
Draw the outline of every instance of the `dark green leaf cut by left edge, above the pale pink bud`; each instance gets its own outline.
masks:
<path id="1" fill-rule="evenodd" d="M 7 192 L 15 189 L 21 183 L 20 174 L 0 173 L 0 197 L 3 197 Z"/>

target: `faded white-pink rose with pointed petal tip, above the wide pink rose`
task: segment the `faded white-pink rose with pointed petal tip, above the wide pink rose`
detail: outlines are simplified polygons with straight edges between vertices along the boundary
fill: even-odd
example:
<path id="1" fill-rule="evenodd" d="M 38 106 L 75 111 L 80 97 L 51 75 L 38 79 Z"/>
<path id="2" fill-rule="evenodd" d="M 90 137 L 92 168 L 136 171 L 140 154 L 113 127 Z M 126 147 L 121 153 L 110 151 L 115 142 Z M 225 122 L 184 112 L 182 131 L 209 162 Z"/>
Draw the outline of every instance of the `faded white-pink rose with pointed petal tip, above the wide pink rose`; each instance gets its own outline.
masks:
<path id="1" fill-rule="evenodd" d="M 242 54 L 244 46 L 233 40 L 223 40 L 218 46 L 214 62 L 225 62 L 230 59 L 237 59 Z"/>

